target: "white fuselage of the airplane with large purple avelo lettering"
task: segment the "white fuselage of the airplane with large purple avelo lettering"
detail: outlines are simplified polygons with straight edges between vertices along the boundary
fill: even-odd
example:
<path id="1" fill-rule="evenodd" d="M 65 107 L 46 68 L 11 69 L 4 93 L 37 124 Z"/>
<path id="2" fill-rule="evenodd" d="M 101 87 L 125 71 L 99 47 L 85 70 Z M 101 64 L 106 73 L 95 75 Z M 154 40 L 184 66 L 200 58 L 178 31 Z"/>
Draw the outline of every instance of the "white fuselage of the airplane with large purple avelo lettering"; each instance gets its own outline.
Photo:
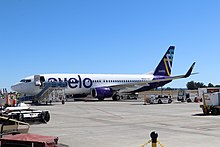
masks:
<path id="1" fill-rule="evenodd" d="M 67 82 L 65 93 L 71 94 L 90 94 L 91 89 L 97 87 L 112 87 L 115 85 L 123 85 L 129 83 L 138 83 L 150 81 L 154 78 L 153 75 L 147 74 L 41 74 L 45 78 L 45 82 Z M 19 82 L 12 86 L 13 89 L 25 93 L 27 95 L 36 95 L 42 89 L 34 84 L 34 76 L 25 79 L 30 82 Z M 133 90 L 138 90 L 141 87 L 133 87 Z M 117 88 L 116 88 L 117 89 Z"/>

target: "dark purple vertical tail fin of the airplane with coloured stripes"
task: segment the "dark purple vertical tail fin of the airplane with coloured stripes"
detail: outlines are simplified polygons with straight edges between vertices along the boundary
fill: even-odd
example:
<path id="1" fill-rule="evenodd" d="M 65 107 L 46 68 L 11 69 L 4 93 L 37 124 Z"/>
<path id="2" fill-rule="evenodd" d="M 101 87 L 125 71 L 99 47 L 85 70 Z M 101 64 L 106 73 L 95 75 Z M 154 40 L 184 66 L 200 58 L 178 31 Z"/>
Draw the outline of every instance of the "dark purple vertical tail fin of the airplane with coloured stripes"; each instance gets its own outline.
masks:
<path id="1" fill-rule="evenodd" d="M 155 76 L 170 76 L 171 75 L 174 49 L 175 49 L 175 46 L 169 47 L 166 54 L 163 56 L 157 68 L 155 69 L 153 75 Z"/>

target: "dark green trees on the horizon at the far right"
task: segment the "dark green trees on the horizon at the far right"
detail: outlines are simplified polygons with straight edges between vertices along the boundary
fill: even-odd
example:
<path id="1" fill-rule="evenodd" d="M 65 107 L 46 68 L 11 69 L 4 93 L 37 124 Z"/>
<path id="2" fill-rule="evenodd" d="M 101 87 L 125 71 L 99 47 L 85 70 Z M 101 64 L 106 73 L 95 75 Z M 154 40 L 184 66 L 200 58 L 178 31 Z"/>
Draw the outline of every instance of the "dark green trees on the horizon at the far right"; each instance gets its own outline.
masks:
<path id="1" fill-rule="evenodd" d="M 205 88 L 205 87 L 220 87 L 220 85 L 213 85 L 212 83 L 205 85 L 203 82 L 190 81 L 186 84 L 186 87 L 189 90 L 196 90 L 198 88 Z"/>

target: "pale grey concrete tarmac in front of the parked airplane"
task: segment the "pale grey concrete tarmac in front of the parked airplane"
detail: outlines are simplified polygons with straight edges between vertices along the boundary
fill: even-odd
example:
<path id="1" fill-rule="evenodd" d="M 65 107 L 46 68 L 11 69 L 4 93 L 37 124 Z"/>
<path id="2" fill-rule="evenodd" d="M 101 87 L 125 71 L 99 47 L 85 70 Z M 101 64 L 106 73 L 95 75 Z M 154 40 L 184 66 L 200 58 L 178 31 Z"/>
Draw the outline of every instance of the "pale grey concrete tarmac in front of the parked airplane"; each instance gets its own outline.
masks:
<path id="1" fill-rule="evenodd" d="M 203 115 L 200 104 L 91 100 L 32 106 L 49 110 L 51 120 L 29 132 L 57 136 L 69 147 L 139 147 L 152 131 L 165 147 L 218 146 L 220 116 Z"/>

